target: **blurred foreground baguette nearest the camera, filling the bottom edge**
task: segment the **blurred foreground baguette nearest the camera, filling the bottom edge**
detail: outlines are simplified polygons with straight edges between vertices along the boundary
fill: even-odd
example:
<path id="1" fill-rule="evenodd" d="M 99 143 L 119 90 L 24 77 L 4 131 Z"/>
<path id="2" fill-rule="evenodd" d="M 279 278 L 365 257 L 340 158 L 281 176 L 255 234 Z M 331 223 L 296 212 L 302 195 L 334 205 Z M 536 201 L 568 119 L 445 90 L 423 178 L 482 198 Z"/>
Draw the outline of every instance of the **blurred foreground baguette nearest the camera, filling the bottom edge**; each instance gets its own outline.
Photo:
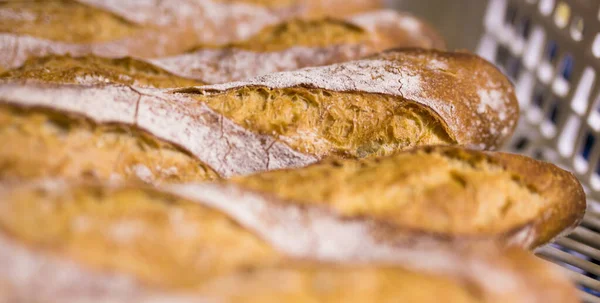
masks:
<path id="1" fill-rule="evenodd" d="M 367 222 L 332 219 L 336 237 L 313 239 L 300 261 L 201 200 L 156 189 L 4 184 L 0 209 L 3 302 L 577 300 L 557 269 L 520 250 L 386 246 L 356 232 Z M 312 233 L 268 232 L 299 245 Z"/>

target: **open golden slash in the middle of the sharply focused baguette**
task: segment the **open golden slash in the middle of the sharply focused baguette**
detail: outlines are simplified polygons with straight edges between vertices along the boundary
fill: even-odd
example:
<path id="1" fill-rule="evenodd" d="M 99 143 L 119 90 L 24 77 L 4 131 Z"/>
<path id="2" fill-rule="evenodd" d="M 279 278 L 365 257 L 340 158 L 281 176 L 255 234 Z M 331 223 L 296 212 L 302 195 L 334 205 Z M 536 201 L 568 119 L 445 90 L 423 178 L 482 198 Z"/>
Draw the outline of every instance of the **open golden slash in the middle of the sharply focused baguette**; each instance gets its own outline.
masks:
<path id="1" fill-rule="evenodd" d="M 245 128 L 320 157 L 453 143 L 431 112 L 389 95 L 248 86 L 194 98 Z"/>

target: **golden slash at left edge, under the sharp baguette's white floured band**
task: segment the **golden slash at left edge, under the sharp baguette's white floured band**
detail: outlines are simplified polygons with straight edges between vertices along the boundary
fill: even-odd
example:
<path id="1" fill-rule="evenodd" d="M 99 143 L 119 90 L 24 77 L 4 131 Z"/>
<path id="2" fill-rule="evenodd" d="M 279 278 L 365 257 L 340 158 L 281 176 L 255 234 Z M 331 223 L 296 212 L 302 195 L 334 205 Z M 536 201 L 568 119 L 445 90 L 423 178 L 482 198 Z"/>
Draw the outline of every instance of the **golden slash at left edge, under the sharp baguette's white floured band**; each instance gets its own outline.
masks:
<path id="1" fill-rule="evenodd" d="M 159 184 L 214 180 L 189 153 L 124 125 L 95 124 L 41 109 L 0 106 L 0 178 L 123 180 Z"/>

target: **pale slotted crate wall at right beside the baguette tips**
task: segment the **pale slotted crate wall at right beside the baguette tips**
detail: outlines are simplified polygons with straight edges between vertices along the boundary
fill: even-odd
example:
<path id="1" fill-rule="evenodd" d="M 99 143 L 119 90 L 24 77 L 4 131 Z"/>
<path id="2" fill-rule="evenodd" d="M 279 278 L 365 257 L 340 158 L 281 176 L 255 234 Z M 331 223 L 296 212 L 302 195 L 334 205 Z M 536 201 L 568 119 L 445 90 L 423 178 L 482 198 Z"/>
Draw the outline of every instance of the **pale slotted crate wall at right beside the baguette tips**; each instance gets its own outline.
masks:
<path id="1" fill-rule="evenodd" d="M 600 302 L 600 1 L 490 0 L 478 53 L 514 81 L 521 121 L 507 150 L 551 161 L 584 184 L 588 212 L 536 251 Z"/>

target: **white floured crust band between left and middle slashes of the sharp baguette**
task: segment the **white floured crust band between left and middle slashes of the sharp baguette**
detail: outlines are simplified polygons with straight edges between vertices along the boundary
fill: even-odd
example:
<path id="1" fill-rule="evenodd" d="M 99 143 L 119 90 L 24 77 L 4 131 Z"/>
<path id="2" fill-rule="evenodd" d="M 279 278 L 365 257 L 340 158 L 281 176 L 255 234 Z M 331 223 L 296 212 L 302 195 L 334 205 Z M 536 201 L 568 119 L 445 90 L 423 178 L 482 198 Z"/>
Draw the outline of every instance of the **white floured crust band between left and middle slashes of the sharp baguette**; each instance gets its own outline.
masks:
<path id="1" fill-rule="evenodd" d="M 190 152 L 221 177 L 316 161 L 270 136 L 235 125 L 191 98 L 115 85 L 0 84 L 0 102 L 131 125 Z"/>

